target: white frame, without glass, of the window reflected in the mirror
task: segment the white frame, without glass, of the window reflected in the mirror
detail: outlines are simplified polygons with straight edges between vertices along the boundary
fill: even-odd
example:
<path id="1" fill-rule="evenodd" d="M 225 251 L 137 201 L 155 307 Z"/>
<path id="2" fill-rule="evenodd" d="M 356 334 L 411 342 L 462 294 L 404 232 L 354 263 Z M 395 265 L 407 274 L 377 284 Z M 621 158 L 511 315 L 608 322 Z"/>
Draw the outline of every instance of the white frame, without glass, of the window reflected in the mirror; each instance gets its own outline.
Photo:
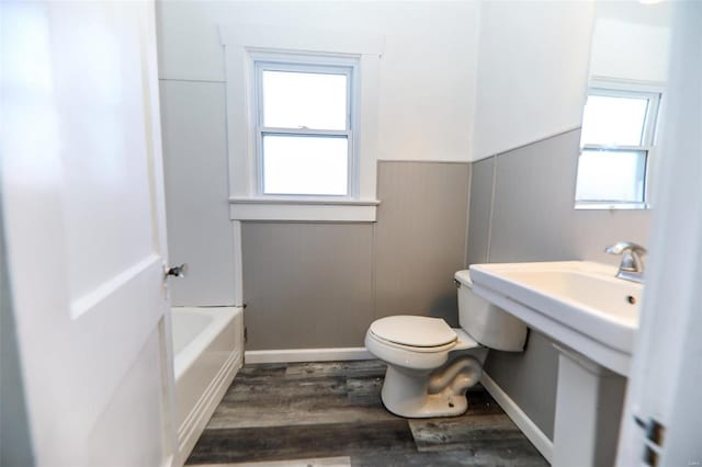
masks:
<path id="1" fill-rule="evenodd" d="M 614 149 L 614 150 L 635 150 L 646 151 L 646 169 L 644 179 L 644 201 L 643 202 L 624 202 L 624 201 L 580 201 L 576 200 L 576 209 L 649 209 L 650 208 L 650 180 L 653 167 L 655 162 L 655 149 L 657 138 L 658 118 L 660 116 L 660 103 L 665 91 L 664 83 L 650 81 L 634 81 L 610 79 L 605 77 L 593 77 L 588 87 L 588 95 L 611 95 L 616 98 L 627 96 L 647 96 L 650 109 L 646 111 L 646 122 L 644 122 L 644 132 L 641 146 L 616 146 L 609 147 L 602 145 L 589 145 L 581 141 L 580 149 Z M 577 183 L 577 182 L 576 182 Z"/>

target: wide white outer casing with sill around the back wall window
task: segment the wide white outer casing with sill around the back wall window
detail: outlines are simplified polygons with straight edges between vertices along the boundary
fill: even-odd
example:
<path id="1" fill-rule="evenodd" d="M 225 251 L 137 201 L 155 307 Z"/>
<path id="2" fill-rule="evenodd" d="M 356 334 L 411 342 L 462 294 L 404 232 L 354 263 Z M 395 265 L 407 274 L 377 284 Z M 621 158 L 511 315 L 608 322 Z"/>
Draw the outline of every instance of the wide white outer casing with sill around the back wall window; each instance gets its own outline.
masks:
<path id="1" fill-rule="evenodd" d="M 375 221 L 382 36 L 294 27 L 219 25 L 225 50 L 229 203 L 234 220 Z M 354 127 L 358 185 L 351 196 L 274 196 L 258 192 L 252 92 L 257 54 L 291 54 L 358 60 L 359 112 Z M 294 61 L 294 60 L 293 60 Z M 352 123 L 353 125 L 353 123 Z"/>

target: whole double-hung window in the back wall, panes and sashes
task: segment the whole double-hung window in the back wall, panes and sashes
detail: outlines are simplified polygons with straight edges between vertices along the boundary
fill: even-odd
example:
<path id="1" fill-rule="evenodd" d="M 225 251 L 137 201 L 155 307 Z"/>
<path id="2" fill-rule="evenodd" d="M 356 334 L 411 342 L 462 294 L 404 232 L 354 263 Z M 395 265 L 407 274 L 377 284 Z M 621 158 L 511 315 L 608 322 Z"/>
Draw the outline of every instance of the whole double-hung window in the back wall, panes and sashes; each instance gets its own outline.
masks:
<path id="1" fill-rule="evenodd" d="M 253 73 L 258 194 L 355 196 L 356 62 L 254 55 Z"/>

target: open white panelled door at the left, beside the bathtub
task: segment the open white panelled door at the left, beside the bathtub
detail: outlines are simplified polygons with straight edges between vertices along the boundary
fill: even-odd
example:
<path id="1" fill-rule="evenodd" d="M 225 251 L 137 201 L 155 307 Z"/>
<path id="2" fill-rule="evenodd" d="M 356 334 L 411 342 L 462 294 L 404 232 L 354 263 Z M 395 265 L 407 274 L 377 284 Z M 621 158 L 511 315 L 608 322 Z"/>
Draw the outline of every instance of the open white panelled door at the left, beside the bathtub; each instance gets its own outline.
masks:
<path id="1" fill-rule="evenodd" d="M 154 3 L 1 8 L 2 203 L 35 463 L 169 465 Z"/>

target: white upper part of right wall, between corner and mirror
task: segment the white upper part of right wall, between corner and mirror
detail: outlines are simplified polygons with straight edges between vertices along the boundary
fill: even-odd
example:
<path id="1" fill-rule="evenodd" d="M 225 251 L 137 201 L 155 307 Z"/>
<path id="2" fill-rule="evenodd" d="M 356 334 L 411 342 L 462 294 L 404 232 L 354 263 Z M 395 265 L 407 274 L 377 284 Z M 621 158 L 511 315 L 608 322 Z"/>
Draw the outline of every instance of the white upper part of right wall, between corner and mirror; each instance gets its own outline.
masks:
<path id="1" fill-rule="evenodd" d="M 482 3 L 472 160 L 581 125 L 593 10 L 591 1 Z"/>

